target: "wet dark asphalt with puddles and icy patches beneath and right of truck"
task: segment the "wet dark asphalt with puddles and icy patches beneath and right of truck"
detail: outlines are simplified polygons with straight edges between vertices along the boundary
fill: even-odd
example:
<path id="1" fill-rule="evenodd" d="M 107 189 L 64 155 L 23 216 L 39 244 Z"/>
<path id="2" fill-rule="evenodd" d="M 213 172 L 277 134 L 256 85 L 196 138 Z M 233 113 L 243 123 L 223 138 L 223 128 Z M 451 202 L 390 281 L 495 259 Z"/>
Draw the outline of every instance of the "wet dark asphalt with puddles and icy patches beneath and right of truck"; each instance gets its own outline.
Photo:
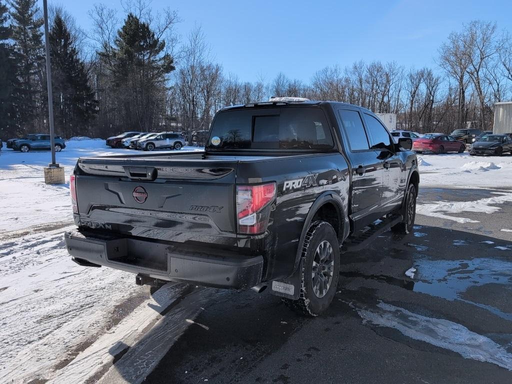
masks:
<path id="1" fill-rule="evenodd" d="M 421 188 L 418 203 L 495 192 Z M 343 254 L 323 316 L 218 291 L 143 382 L 510 383 L 512 203 L 499 207 L 468 223 L 418 215 L 414 233 Z"/>

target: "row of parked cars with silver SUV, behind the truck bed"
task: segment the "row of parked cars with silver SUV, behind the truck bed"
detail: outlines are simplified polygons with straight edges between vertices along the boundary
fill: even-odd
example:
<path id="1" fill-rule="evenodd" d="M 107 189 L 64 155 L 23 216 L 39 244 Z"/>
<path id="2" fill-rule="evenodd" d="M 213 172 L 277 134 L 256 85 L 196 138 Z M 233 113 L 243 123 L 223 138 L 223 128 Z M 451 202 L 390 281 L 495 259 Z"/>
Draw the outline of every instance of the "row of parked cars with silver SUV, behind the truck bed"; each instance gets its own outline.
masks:
<path id="1" fill-rule="evenodd" d="M 178 132 L 125 132 L 106 139 L 106 145 L 112 148 L 132 148 L 144 151 L 180 150 L 187 145 L 187 141 L 185 136 Z"/>

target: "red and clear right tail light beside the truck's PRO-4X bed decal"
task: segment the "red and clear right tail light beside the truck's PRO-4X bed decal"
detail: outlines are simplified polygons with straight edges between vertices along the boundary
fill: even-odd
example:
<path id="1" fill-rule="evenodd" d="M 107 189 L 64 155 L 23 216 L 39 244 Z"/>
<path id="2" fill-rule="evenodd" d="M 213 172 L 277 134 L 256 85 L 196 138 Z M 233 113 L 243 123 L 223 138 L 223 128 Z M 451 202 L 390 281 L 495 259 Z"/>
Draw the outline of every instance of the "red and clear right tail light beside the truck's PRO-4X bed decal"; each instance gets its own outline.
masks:
<path id="1" fill-rule="evenodd" d="M 237 185 L 238 232 L 258 234 L 267 229 L 275 183 Z"/>

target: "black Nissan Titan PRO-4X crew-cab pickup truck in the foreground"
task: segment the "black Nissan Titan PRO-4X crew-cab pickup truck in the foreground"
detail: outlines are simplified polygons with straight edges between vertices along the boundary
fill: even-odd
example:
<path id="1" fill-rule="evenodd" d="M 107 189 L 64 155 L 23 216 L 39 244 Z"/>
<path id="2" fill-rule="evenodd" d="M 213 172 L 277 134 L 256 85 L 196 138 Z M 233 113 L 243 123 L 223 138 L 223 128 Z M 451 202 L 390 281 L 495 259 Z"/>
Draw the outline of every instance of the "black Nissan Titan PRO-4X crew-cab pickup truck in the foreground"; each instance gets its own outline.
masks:
<path id="1" fill-rule="evenodd" d="M 370 111 L 283 99 L 232 106 L 204 152 L 80 158 L 73 260 L 273 294 L 306 314 L 331 303 L 340 253 L 409 233 L 419 184 L 411 140 Z"/>

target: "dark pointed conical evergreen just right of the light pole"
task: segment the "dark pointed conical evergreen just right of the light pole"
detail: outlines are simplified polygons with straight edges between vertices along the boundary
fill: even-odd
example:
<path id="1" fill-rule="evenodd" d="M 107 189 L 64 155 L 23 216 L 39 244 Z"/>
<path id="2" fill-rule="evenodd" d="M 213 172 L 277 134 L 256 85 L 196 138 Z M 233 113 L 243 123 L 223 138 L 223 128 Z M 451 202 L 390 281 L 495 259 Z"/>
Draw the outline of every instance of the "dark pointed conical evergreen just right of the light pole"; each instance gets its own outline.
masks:
<path id="1" fill-rule="evenodd" d="M 50 31 L 55 130 L 63 136 L 86 134 L 97 101 L 86 68 L 78 56 L 75 38 L 60 11 Z"/>

